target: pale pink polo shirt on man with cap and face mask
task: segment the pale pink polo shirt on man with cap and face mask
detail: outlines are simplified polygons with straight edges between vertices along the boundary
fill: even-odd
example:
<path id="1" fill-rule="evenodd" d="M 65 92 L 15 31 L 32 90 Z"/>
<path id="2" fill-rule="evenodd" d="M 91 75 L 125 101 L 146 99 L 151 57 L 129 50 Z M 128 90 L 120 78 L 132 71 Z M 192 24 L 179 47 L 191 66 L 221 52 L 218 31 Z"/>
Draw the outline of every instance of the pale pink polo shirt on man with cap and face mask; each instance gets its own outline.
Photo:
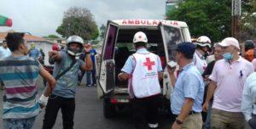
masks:
<path id="1" fill-rule="evenodd" d="M 251 73 L 253 64 L 241 57 L 231 64 L 224 59 L 216 62 L 209 77 L 217 82 L 212 108 L 241 112 L 242 89 Z"/>

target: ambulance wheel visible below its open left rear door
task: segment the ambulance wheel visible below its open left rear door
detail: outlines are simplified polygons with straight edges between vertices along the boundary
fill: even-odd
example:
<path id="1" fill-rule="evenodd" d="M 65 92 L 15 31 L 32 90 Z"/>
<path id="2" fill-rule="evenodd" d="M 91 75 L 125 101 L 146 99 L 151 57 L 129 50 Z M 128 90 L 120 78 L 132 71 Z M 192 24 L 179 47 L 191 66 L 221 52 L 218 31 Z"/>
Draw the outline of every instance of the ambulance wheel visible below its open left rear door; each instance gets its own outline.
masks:
<path id="1" fill-rule="evenodd" d="M 115 105 L 110 103 L 109 98 L 104 98 L 103 114 L 105 118 L 113 118 L 116 115 Z"/>

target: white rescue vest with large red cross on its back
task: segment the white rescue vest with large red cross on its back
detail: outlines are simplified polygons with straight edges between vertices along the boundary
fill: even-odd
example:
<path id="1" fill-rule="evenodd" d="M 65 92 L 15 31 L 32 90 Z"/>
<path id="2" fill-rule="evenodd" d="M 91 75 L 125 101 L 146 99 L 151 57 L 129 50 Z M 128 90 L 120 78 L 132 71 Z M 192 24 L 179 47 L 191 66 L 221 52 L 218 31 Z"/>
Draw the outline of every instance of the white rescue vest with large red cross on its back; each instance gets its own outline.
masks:
<path id="1" fill-rule="evenodd" d="M 134 53 L 133 72 L 129 78 L 131 98 L 146 98 L 160 93 L 158 56 L 154 53 Z"/>

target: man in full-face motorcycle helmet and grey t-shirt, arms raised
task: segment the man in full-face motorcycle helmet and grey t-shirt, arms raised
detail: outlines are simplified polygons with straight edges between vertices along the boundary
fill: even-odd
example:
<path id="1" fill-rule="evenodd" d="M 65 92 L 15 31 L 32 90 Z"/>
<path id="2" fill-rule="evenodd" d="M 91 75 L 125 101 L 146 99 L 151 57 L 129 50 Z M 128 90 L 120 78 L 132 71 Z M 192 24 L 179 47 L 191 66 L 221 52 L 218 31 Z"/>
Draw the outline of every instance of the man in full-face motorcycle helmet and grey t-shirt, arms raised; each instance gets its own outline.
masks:
<path id="1" fill-rule="evenodd" d="M 79 59 L 83 50 L 87 54 L 84 61 Z M 49 58 L 55 63 L 53 76 L 55 76 L 56 86 L 45 109 L 43 129 L 51 129 L 55 125 L 59 109 L 62 113 L 63 128 L 73 129 L 74 98 L 79 70 L 92 69 L 89 51 L 89 48 L 84 47 L 84 41 L 81 37 L 69 36 L 64 51 L 49 52 Z"/>

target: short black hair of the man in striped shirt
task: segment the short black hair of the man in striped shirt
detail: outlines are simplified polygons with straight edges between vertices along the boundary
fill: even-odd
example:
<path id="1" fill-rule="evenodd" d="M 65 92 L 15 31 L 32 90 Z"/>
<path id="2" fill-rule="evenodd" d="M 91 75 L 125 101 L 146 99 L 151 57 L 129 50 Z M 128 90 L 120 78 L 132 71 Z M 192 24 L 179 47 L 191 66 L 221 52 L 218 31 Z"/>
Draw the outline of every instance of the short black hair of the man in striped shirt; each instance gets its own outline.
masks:
<path id="1" fill-rule="evenodd" d="M 19 32 L 11 32 L 8 33 L 5 37 L 5 40 L 7 42 L 7 46 L 11 52 L 14 52 L 17 50 L 21 43 L 24 43 L 24 33 Z"/>

